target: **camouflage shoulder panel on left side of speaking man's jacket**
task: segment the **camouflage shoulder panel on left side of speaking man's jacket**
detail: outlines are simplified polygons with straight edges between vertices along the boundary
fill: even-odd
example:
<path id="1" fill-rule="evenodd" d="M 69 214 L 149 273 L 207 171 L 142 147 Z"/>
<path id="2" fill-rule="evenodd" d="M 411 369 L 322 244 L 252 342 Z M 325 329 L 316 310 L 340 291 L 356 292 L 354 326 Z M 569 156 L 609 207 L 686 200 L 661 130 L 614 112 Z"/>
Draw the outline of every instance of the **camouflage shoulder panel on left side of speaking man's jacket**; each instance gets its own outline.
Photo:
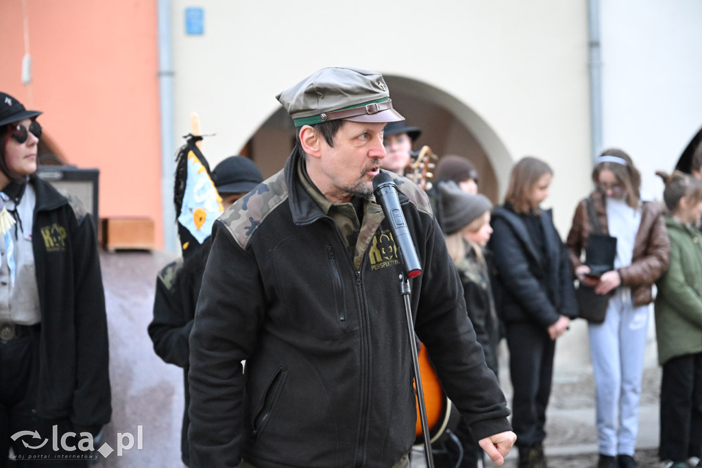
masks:
<path id="1" fill-rule="evenodd" d="M 218 221 L 226 226 L 239 247 L 246 249 L 251 236 L 266 216 L 286 200 L 288 184 L 281 169 L 234 202 Z"/>

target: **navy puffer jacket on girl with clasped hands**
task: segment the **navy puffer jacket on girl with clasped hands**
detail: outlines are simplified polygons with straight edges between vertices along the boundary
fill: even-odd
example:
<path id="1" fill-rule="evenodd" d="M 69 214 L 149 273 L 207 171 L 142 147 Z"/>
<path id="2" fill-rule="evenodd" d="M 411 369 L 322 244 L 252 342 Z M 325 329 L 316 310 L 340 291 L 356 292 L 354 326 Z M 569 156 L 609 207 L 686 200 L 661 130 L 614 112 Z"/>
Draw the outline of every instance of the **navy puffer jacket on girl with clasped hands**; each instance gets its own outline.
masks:
<path id="1" fill-rule="evenodd" d="M 500 318 L 548 328 L 559 316 L 578 316 L 567 249 L 553 226 L 550 210 L 541 212 L 545 254 L 536 252 L 524 221 L 511 209 L 492 213 L 490 238 L 496 267 L 495 299 Z"/>

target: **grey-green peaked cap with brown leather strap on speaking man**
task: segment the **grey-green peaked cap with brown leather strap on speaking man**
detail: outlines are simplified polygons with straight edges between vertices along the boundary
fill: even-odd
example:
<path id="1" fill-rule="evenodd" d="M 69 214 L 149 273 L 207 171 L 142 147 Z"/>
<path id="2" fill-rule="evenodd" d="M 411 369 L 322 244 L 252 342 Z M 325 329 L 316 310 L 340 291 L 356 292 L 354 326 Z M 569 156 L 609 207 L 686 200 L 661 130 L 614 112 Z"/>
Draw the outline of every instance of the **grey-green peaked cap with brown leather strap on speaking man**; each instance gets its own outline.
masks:
<path id="1" fill-rule="evenodd" d="M 353 122 L 404 120 L 392 108 L 383 75 L 358 68 L 323 68 L 276 98 L 293 117 L 295 126 L 334 119 Z"/>

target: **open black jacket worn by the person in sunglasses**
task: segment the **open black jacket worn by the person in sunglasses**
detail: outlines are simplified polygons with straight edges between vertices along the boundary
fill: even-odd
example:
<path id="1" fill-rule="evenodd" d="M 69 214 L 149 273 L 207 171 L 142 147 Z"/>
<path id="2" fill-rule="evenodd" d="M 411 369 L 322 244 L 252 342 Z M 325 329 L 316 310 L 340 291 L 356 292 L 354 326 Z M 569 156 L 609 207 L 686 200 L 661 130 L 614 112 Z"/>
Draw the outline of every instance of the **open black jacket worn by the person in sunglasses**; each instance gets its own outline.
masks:
<path id="1" fill-rule="evenodd" d="M 32 250 L 41 306 L 37 412 L 95 434 L 112 414 L 107 316 L 89 214 L 32 176 Z"/>

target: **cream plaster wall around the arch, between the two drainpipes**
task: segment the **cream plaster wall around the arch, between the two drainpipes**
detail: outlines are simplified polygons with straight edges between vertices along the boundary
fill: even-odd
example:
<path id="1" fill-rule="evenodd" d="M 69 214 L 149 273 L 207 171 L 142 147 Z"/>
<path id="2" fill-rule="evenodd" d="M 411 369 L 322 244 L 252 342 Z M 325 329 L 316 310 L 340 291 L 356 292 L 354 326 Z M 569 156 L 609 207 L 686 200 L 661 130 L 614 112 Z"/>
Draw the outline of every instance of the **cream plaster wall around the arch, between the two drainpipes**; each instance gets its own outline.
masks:
<path id="1" fill-rule="evenodd" d="M 185 35 L 187 6 L 204 8 L 203 36 Z M 584 1 L 174 0 L 173 51 L 176 135 L 197 111 L 203 132 L 217 134 L 204 142 L 212 164 L 277 110 L 277 93 L 352 65 L 423 82 L 475 112 L 501 148 L 500 193 L 519 157 L 548 161 L 556 176 L 545 204 L 562 235 L 590 187 Z"/>

